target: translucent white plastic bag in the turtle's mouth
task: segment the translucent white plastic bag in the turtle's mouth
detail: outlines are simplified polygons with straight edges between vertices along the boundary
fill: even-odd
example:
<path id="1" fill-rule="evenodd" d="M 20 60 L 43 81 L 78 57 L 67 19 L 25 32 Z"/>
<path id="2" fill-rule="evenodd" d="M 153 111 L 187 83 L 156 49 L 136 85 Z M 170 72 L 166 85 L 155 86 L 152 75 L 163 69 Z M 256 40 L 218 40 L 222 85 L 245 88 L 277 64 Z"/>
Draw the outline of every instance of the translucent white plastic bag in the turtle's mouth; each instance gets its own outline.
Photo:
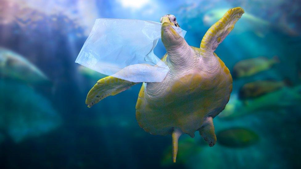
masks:
<path id="1" fill-rule="evenodd" d="M 173 27 L 185 36 L 185 30 Z M 162 82 L 169 68 L 153 51 L 159 38 L 159 22 L 97 19 L 75 62 L 131 82 Z"/>

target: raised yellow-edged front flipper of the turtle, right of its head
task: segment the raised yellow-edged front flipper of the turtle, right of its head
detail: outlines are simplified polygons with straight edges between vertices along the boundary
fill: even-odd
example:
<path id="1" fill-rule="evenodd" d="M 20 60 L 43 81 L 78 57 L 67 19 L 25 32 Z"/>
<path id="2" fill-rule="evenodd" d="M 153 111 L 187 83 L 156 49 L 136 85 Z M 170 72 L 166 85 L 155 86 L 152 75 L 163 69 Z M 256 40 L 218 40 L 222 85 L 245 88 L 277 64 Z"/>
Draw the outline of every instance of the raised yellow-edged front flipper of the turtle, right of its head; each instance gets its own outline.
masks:
<path id="1" fill-rule="evenodd" d="M 200 45 L 201 55 L 211 56 L 244 13 L 245 11 L 241 7 L 232 8 L 228 10 L 219 21 L 213 24 L 202 39 Z"/>

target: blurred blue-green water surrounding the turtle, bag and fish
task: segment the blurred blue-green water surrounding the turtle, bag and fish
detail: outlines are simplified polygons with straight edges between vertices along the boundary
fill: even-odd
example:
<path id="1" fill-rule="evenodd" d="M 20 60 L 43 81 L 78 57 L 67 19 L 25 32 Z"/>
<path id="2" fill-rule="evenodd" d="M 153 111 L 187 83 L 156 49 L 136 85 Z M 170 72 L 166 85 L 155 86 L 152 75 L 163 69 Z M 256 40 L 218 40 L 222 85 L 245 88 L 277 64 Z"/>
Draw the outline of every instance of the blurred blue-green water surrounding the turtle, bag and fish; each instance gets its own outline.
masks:
<path id="1" fill-rule="evenodd" d="M 92 108 L 85 105 L 87 93 L 101 77 L 84 75 L 74 61 L 96 18 L 159 22 L 161 16 L 174 14 L 187 30 L 188 44 L 199 47 L 211 25 L 204 17 L 212 10 L 236 6 L 245 14 L 215 53 L 230 71 L 247 58 L 278 56 L 280 62 L 235 79 L 231 99 L 243 84 L 255 80 L 289 79 L 291 85 L 285 87 L 289 91 L 299 86 L 301 3 L 297 0 L 0 1 L 0 47 L 26 58 L 49 79 L 37 84 L 1 74 L 1 168 L 300 168 L 301 109 L 295 103 L 300 92 L 279 97 L 274 106 L 258 102 L 262 108 L 244 116 L 213 119 L 216 133 L 244 127 L 258 135 L 256 143 L 226 147 L 217 142 L 209 147 L 196 132 L 193 147 L 199 148 L 183 148 L 189 153 L 175 164 L 164 161 L 171 136 L 151 135 L 136 121 L 141 83 Z M 165 53 L 159 41 L 155 54 Z M 282 98 L 289 101 L 278 108 Z M 179 141 L 185 144 L 188 137 L 183 135 Z"/>

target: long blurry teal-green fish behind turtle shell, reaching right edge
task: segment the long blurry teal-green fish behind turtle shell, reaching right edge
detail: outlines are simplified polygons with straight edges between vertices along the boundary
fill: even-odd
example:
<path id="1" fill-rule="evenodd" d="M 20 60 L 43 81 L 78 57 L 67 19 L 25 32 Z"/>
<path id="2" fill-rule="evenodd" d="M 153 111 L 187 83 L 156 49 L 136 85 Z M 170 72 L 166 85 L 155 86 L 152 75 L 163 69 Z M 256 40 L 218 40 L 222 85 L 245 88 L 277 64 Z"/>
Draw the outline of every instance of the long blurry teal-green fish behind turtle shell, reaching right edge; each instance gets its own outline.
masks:
<path id="1" fill-rule="evenodd" d="M 244 115 L 266 111 L 281 111 L 301 103 L 301 85 L 282 87 L 256 99 L 241 101 L 237 94 L 230 97 L 225 109 L 218 115 L 221 119 L 235 119 Z"/>

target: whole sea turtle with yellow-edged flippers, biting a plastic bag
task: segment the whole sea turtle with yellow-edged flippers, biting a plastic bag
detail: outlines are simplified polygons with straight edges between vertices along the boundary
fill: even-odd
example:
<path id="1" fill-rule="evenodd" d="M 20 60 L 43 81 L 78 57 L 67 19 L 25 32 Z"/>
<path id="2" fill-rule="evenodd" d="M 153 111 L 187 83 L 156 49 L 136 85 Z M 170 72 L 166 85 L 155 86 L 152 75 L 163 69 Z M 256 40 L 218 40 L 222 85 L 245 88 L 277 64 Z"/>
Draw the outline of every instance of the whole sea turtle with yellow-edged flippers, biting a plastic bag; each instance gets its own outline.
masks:
<path id="1" fill-rule="evenodd" d="M 178 139 L 195 131 L 209 146 L 216 143 L 212 119 L 229 101 L 232 77 L 224 62 L 214 53 L 216 47 L 234 28 L 244 10 L 236 7 L 204 35 L 200 48 L 189 46 L 171 25 L 179 27 L 174 15 L 160 20 L 162 42 L 167 54 L 161 59 L 170 68 L 162 82 L 144 82 L 136 104 L 136 119 L 146 132 L 172 135 L 173 162 Z M 86 99 L 88 107 L 109 95 L 116 95 L 137 83 L 108 76 L 98 80 Z"/>

